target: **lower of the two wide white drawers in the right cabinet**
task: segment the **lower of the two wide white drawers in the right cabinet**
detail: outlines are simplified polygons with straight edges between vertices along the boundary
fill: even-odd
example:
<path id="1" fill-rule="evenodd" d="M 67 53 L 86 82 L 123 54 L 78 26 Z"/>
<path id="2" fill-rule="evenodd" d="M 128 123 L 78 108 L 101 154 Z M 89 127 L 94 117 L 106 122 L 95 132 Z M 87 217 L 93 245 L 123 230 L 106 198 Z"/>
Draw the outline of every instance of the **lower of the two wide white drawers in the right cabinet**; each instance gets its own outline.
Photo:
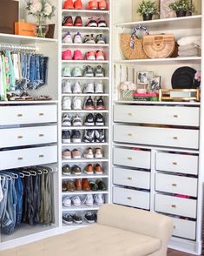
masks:
<path id="1" fill-rule="evenodd" d="M 198 149 L 199 131 L 190 129 L 114 125 L 114 141 Z"/>

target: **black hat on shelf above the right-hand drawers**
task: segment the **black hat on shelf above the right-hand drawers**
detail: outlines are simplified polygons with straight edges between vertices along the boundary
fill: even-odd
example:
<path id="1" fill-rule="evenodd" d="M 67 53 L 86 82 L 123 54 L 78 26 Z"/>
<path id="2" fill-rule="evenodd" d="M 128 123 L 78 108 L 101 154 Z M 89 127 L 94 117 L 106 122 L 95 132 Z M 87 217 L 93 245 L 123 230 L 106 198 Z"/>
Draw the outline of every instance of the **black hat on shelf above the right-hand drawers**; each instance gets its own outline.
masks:
<path id="1" fill-rule="evenodd" d="M 174 71 L 171 77 L 173 89 L 195 89 L 198 88 L 201 82 L 194 79 L 196 71 L 191 67 L 181 67 Z"/>

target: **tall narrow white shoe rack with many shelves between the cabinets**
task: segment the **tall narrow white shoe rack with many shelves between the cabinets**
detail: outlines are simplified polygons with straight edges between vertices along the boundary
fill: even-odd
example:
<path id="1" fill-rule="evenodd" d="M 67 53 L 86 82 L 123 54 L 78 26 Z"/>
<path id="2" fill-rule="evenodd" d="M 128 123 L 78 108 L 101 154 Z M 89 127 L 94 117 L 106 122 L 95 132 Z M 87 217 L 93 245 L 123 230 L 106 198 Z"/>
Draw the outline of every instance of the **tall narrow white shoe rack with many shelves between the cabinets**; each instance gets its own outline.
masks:
<path id="1" fill-rule="evenodd" d="M 74 0 L 73 2 L 75 3 L 76 0 Z M 73 229 L 76 227 L 80 227 L 80 226 L 87 226 L 89 225 L 89 223 L 84 219 L 84 216 L 87 212 L 93 212 L 96 213 L 99 205 L 97 205 L 95 203 L 94 200 L 94 204 L 91 206 L 85 205 L 84 204 L 84 200 L 86 199 L 86 196 L 88 194 L 93 195 L 93 198 L 96 195 L 102 195 L 102 198 L 104 199 L 104 203 L 109 203 L 109 199 L 110 199 L 110 195 L 109 195 L 109 154 L 110 154 L 110 148 L 109 148 L 109 125 L 110 125 L 110 118 L 109 118 L 109 106 L 110 106 L 110 79 L 109 79 L 109 75 L 110 75 L 110 59 L 109 59 L 109 44 L 110 44 L 110 10 L 109 10 L 109 1 L 106 1 L 107 3 L 107 10 L 86 10 L 86 7 L 89 3 L 88 0 L 82 0 L 82 10 L 67 10 L 67 9 L 63 9 L 64 7 L 64 2 L 62 1 L 62 21 L 64 19 L 64 17 L 67 16 L 71 16 L 73 19 L 73 22 L 75 22 L 75 18 L 76 16 L 80 16 L 82 17 L 82 26 L 64 26 L 62 23 L 62 27 L 61 27 L 61 38 L 63 38 L 63 36 L 69 31 L 72 39 L 74 39 L 74 35 L 79 32 L 82 36 L 82 42 L 83 42 L 83 38 L 85 37 L 85 35 L 90 35 L 93 34 L 94 37 L 96 37 L 98 34 L 103 34 L 106 38 L 106 42 L 105 44 L 75 44 L 75 43 L 63 43 L 63 40 L 61 41 L 61 47 L 60 47 L 60 51 L 66 51 L 66 50 L 70 50 L 72 52 L 72 56 L 74 55 L 74 51 L 76 50 L 80 50 L 82 51 L 82 60 L 60 60 L 60 65 L 61 65 L 61 69 L 63 71 L 64 67 L 69 67 L 72 71 L 73 69 L 77 66 L 80 67 L 82 69 L 82 71 L 84 71 L 84 67 L 86 65 L 89 65 L 91 67 L 93 67 L 94 69 L 96 68 L 97 65 L 101 65 L 102 68 L 105 71 L 105 75 L 103 77 L 85 77 L 84 74 L 82 75 L 82 77 L 74 77 L 73 74 L 71 77 L 65 77 L 63 76 L 63 72 L 62 72 L 62 77 L 60 79 L 59 82 L 59 87 L 60 87 L 60 91 L 61 91 L 61 98 L 62 98 L 62 111 L 60 111 L 60 116 L 59 118 L 62 120 L 63 118 L 63 114 L 69 114 L 70 119 L 72 120 L 76 114 L 78 114 L 80 116 L 80 118 L 82 118 L 82 126 L 73 126 L 71 124 L 71 126 L 63 126 L 61 124 L 61 131 L 59 131 L 59 138 L 62 138 L 62 133 L 63 131 L 69 131 L 70 135 L 73 134 L 73 131 L 78 130 L 81 133 L 81 142 L 80 143 L 74 143 L 72 138 L 70 138 L 70 143 L 63 143 L 62 140 L 62 144 L 61 144 L 61 148 L 62 151 L 59 152 L 59 158 L 61 159 L 60 161 L 60 168 L 63 169 L 64 165 L 69 165 L 70 169 L 72 168 L 73 165 L 77 165 L 81 168 L 82 170 L 82 174 L 76 175 L 76 174 L 70 174 L 70 175 L 63 175 L 62 172 L 62 193 L 60 195 L 60 200 L 62 201 L 62 205 L 60 206 L 60 219 L 62 221 L 62 226 L 63 228 L 67 228 L 67 229 Z M 107 23 L 107 27 L 87 27 L 86 24 L 89 21 L 89 17 L 101 17 L 103 16 L 106 23 Z M 104 55 L 105 55 L 105 59 L 104 60 L 86 60 L 84 59 L 84 56 L 86 54 L 86 52 L 88 51 L 103 51 Z M 61 52 L 60 52 L 61 55 Z M 76 82 L 79 82 L 81 85 L 81 89 L 82 89 L 82 93 L 63 93 L 62 90 L 62 84 L 65 83 L 66 81 L 69 81 L 72 85 L 74 85 Z M 93 84 L 97 84 L 97 83 L 102 83 L 103 84 L 103 92 L 102 93 L 83 93 L 83 89 L 85 87 L 86 84 L 88 83 L 93 83 Z M 91 98 L 94 101 L 94 104 L 96 104 L 96 100 L 97 98 L 100 98 L 102 96 L 102 99 L 104 101 L 104 105 L 105 105 L 105 109 L 104 110 L 86 110 L 84 109 L 84 104 L 86 103 L 86 100 L 89 98 L 89 96 L 91 96 Z M 63 98 L 64 97 L 69 97 L 71 100 L 71 109 L 70 110 L 63 110 Z M 82 100 L 82 110 L 76 110 L 73 108 L 73 100 L 74 98 L 81 98 Z M 84 125 L 84 121 L 87 115 L 89 115 L 90 113 L 92 113 L 94 116 L 97 113 L 101 113 L 102 116 L 104 117 L 105 120 L 105 125 L 104 126 L 86 126 Z M 83 142 L 83 137 L 85 132 L 87 131 L 87 129 L 93 129 L 95 131 L 100 131 L 101 129 L 104 131 L 105 134 L 105 141 L 102 143 L 98 143 L 98 142 L 93 142 L 93 143 L 87 143 L 87 142 Z M 86 151 L 86 149 L 91 148 L 93 150 L 93 152 L 95 152 L 96 148 L 100 148 L 102 150 L 102 158 L 84 158 L 83 153 Z M 77 149 L 81 152 L 81 158 L 63 158 L 63 152 L 65 150 L 68 150 L 70 152 L 72 152 L 73 150 Z M 102 174 L 87 174 L 84 172 L 84 169 L 86 168 L 87 165 L 93 165 L 95 166 L 96 164 L 99 164 L 102 166 Z M 63 191 L 63 186 L 64 184 L 69 184 L 70 181 L 73 181 L 76 185 L 79 185 L 80 183 L 82 184 L 82 180 L 83 179 L 88 179 L 89 182 L 90 181 L 96 181 L 97 179 L 101 179 L 102 182 L 106 185 L 107 189 L 104 191 L 84 191 L 84 190 L 76 190 L 74 192 L 70 192 L 69 190 L 67 191 Z M 73 204 L 73 198 L 75 196 L 79 196 L 81 199 L 81 205 L 80 206 L 76 206 Z M 63 200 L 69 197 L 69 199 L 71 199 L 71 205 L 69 207 L 65 207 L 63 205 Z M 63 215 L 64 214 L 70 214 L 71 216 L 73 216 L 74 214 L 79 215 L 82 217 L 82 223 L 81 224 L 77 224 L 75 223 L 75 221 L 72 224 L 66 224 L 63 221 Z"/>

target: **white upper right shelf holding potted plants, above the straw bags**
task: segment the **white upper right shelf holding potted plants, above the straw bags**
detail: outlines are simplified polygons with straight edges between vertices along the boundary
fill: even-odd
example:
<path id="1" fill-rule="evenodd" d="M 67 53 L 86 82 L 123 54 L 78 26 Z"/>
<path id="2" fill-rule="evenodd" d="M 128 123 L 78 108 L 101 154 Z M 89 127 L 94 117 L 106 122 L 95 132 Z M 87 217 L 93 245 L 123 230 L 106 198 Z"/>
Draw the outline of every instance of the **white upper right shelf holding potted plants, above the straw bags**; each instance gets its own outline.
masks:
<path id="1" fill-rule="evenodd" d="M 134 29 L 139 24 L 148 27 L 148 30 L 182 30 L 201 28 L 201 15 L 188 17 L 171 17 L 164 19 L 154 19 L 148 21 L 137 21 L 129 23 L 115 24 L 116 27 Z"/>

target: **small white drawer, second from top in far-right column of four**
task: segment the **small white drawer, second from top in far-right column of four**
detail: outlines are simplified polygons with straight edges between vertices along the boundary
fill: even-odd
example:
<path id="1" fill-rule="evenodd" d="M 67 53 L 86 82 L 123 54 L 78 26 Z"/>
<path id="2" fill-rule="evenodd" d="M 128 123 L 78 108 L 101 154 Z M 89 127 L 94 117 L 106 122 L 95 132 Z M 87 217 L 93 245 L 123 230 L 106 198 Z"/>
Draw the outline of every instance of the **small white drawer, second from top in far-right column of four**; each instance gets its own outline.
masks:
<path id="1" fill-rule="evenodd" d="M 155 190 L 160 192 L 178 193 L 197 197 L 198 179 L 168 175 L 164 173 L 155 174 Z"/>

